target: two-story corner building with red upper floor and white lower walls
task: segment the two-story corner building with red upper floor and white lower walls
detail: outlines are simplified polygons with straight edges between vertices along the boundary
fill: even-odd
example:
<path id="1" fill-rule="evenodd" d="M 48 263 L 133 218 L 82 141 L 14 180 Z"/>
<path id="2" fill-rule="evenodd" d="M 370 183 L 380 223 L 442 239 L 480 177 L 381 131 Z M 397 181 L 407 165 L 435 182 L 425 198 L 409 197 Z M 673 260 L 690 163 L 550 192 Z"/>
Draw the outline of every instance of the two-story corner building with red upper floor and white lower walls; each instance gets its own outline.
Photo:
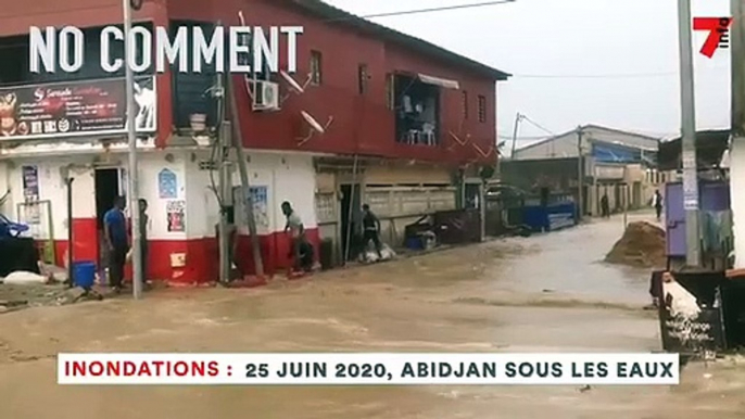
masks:
<path id="1" fill-rule="evenodd" d="M 466 191 L 478 193 L 479 175 L 497 155 L 495 84 L 508 74 L 317 0 L 144 0 L 134 16 L 136 25 L 200 25 L 211 35 L 218 22 L 239 25 L 241 12 L 250 26 L 304 27 L 298 72 L 290 75 L 301 91 L 280 74 L 253 74 L 250 82 L 232 76 L 269 272 L 289 262 L 283 201 L 293 204 L 314 241 L 330 238 L 341 246 L 355 219 L 350 208 L 363 202 L 382 218 L 390 241 L 420 214 L 454 208 Z M 127 193 L 123 73 L 100 66 L 101 29 L 121 22 L 118 0 L 35 0 L 0 10 L 0 193 L 9 191 L 0 211 L 30 224 L 58 264 L 67 252 L 68 228 L 75 261 L 102 258 L 102 215 L 115 195 Z M 29 72 L 29 27 L 63 25 L 84 28 L 83 69 Z M 121 43 L 111 51 L 123 56 Z M 281 68 L 288 68 L 286 52 Z M 207 128 L 216 125 L 215 80 L 214 66 L 136 75 L 150 278 L 216 278 L 215 148 L 193 129 L 201 115 Z M 60 99 L 64 91 L 74 100 Z M 310 136 L 307 116 L 329 123 L 324 134 Z M 75 179 L 72 220 L 68 177 Z M 240 185 L 237 170 L 232 182 Z M 239 262 L 250 270 L 245 223 L 237 224 L 245 255 Z"/>

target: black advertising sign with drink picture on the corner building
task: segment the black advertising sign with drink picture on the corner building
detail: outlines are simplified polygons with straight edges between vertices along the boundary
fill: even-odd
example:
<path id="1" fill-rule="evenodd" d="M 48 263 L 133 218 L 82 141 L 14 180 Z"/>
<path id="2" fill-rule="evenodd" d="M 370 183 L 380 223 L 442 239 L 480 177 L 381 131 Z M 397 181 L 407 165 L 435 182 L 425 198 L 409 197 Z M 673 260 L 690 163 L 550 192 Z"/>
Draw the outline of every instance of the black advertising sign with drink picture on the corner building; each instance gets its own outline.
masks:
<path id="1" fill-rule="evenodd" d="M 124 78 L 0 88 L 0 140 L 126 132 Z M 156 130 L 154 77 L 135 79 L 135 125 Z"/>

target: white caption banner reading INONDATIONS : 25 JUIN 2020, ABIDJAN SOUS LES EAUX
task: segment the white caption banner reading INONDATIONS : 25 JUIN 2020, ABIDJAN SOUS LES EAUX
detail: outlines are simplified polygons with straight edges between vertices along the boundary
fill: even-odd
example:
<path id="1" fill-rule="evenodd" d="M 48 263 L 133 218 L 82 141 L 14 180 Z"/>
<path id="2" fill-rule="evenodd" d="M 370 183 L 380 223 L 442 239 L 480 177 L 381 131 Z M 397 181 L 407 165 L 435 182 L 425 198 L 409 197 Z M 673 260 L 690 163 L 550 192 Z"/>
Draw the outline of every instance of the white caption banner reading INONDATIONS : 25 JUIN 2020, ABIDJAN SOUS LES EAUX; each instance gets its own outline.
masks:
<path id="1" fill-rule="evenodd" d="M 60 384 L 678 384 L 678 354 L 60 354 Z"/>

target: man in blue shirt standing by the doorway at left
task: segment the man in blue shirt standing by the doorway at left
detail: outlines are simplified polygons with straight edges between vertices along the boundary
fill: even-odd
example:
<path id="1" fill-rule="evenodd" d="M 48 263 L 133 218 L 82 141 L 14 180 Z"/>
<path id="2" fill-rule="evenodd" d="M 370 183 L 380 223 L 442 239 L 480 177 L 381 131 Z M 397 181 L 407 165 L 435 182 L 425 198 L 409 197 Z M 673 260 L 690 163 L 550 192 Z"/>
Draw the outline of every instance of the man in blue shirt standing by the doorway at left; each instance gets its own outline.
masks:
<path id="1" fill-rule="evenodd" d="M 114 207 L 103 216 L 103 228 L 109 246 L 109 277 L 114 291 L 122 289 L 124 281 L 124 265 L 129 251 L 127 239 L 127 220 L 124 216 L 126 201 L 124 196 L 116 196 Z"/>

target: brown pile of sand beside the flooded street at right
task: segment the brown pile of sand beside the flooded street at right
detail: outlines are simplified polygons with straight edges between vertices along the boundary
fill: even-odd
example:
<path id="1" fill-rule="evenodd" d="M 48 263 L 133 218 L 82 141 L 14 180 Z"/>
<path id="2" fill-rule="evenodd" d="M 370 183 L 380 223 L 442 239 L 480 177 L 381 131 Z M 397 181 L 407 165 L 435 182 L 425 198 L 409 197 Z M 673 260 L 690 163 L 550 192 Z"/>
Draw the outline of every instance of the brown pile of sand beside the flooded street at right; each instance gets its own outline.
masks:
<path id="1" fill-rule="evenodd" d="M 605 262 L 643 267 L 665 267 L 665 230 L 649 223 L 631 223 Z"/>

